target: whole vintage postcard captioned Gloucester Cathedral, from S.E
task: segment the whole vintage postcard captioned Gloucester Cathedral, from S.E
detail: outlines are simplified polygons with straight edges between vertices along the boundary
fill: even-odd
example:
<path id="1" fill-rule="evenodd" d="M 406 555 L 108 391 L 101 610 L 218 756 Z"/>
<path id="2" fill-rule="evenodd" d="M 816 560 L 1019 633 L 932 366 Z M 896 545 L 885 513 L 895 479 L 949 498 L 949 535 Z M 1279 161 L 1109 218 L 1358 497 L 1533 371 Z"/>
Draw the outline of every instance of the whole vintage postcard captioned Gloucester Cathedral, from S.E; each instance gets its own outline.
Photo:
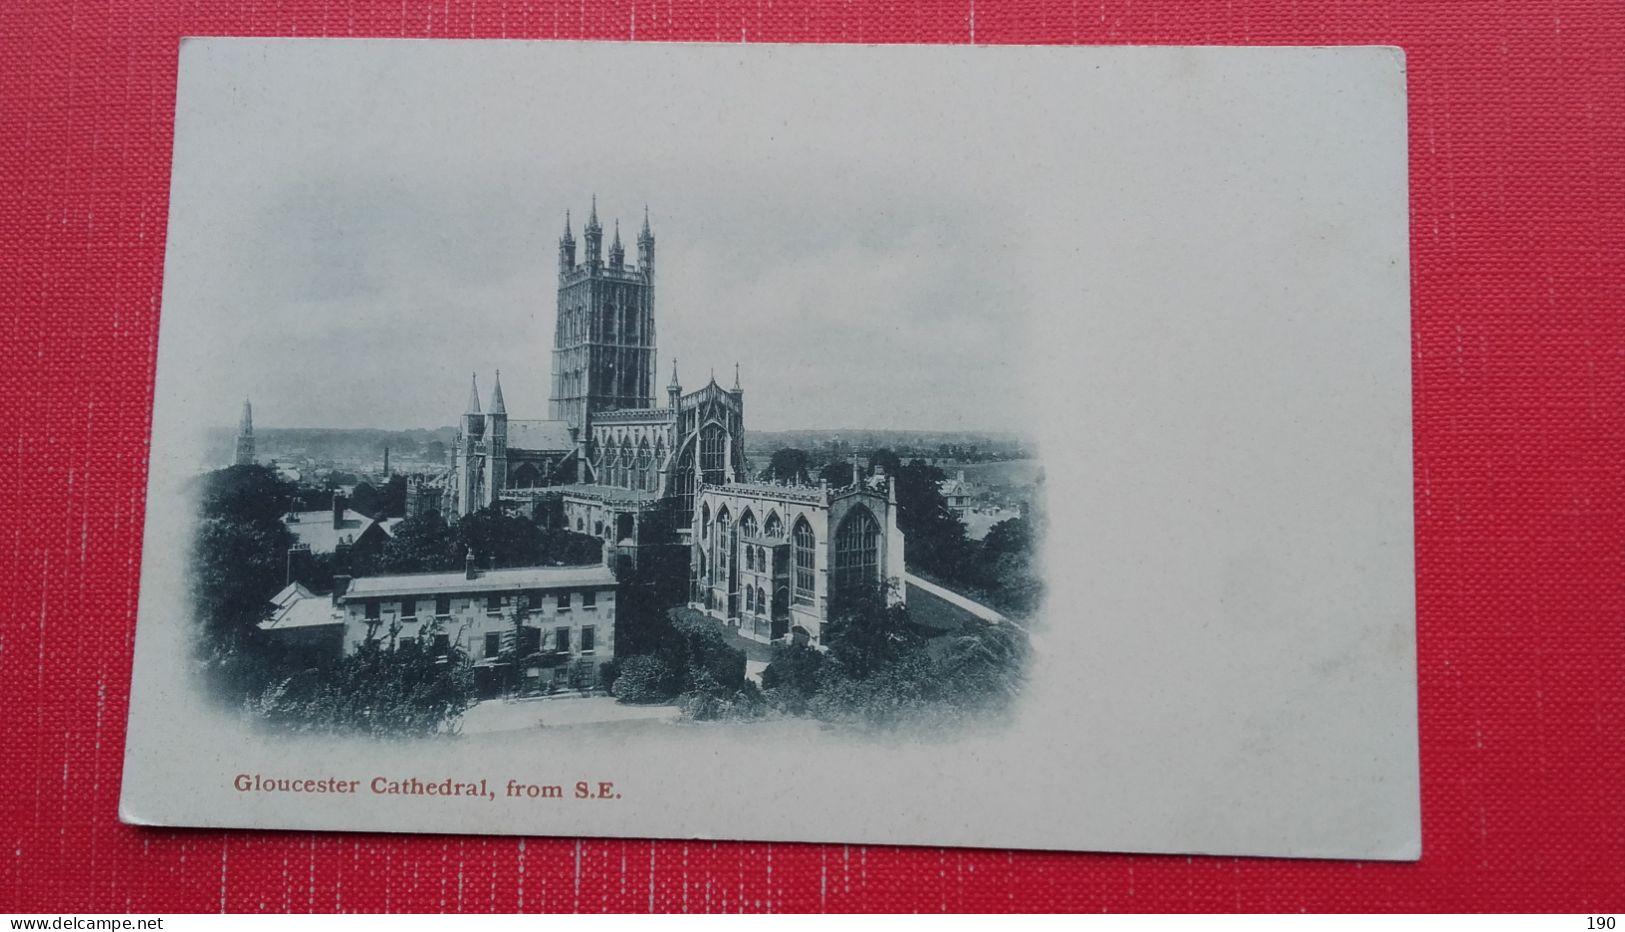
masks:
<path id="1" fill-rule="evenodd" d="M 192 39 L 122 817 L 1409 859 L 1393 49 Z"/>

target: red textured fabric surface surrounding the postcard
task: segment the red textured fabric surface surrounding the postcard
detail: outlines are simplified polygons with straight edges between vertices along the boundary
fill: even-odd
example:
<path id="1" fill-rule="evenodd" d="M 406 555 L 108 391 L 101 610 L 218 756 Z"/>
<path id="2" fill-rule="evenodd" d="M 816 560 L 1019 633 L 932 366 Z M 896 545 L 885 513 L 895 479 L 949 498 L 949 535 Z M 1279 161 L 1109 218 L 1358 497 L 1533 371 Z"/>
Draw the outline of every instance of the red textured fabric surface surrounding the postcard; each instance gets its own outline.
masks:
<path id="1" fill-rule="evenodd" d="M 0 3 L 0 909 L 1625 908 L 1625 3 Z M 1402 45 L 1420 864 L 119 825 L 185 34 Z"/>

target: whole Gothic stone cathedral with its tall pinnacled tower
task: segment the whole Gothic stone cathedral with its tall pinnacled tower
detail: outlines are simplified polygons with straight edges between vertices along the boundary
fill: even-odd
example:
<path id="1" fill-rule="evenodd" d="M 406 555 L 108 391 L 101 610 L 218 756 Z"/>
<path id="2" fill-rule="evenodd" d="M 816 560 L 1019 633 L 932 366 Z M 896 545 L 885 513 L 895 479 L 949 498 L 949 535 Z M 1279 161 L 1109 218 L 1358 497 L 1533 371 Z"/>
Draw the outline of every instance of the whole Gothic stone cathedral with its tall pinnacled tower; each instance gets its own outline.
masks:
<path id="1" fill-rule="evenodd" d="M 450 468 L 413 482 L 410 513 L 546 515 L 601 537 L 614 567 L 637 565 L 642 549 L 684 547 L 689 604 L 762 641 L 819 645 L 842 586 L 887 586 L 902 599 L 894 477 L 853 466 L 843 487 L 752 481 L 738 365 L 731 388 L 710 378 L 684 393 L 673 364 L 656 408 L 648 211 L 635 265 L 619 224 L 604 255 L 596 198 L 582 261 L 575 245 L 566 214 L 548 417 L 509 417 L 500 377 L 484 406 L 471 385 Z"/>

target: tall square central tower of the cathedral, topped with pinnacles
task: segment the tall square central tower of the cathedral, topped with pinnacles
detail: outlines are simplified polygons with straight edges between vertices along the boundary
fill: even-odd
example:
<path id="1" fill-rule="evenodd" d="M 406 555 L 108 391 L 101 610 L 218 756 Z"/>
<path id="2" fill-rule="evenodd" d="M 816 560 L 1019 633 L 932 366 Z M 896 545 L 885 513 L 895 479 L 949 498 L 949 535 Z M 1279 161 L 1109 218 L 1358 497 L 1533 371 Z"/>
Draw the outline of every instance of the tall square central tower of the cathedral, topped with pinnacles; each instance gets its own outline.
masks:
<path id="1" fill-rule="evenodd" d="M 585 432 L 601 411 L 655 406 L 655 235 L 645 211 L 634 266 L 618 226 L 604 263 L 595 196 L 582 240 L 585 260 L 577 265 L 566 218 L 548 416 Z"/>

